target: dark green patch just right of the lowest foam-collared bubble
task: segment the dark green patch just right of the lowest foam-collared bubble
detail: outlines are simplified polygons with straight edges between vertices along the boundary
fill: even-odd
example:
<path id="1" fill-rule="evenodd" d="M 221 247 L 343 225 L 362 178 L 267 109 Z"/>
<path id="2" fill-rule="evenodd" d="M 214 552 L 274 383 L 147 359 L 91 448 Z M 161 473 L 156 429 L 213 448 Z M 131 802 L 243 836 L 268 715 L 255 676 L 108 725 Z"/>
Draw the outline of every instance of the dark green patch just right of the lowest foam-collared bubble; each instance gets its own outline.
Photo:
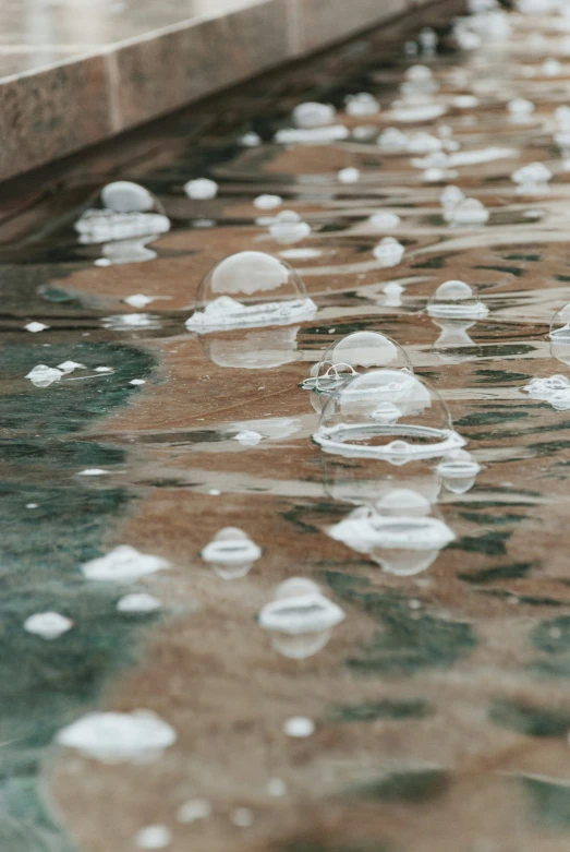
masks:
<path id="1" fill-rule="evenodd" d="M 476 645 L 470 624 L 427 613 L 417 616 L 404 598 L 341 572 L 325 572 L 324 579 L 336 595 L 363 609 L 380 627 L 362 656 L 347 660 L 361 674 L 402 675 L 449 668 Z"/>

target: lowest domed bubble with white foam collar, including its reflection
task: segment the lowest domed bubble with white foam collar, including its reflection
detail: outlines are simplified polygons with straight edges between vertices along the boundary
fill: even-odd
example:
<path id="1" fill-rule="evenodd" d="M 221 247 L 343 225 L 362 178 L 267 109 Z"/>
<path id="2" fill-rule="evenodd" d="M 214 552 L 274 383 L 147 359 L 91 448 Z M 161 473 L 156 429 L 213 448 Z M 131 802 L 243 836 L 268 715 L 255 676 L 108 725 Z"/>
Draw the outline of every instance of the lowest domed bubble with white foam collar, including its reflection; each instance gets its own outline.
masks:
<path id="1" fill-rule="evenodd" d="M 320 651 L 329 641 L 332 627 L 343 619 L 340 607 L 304 577 L 281 583 L 274 600 L 259 613 L 259 624 L 270 632 L 275 650 L 294 660 Z"/>

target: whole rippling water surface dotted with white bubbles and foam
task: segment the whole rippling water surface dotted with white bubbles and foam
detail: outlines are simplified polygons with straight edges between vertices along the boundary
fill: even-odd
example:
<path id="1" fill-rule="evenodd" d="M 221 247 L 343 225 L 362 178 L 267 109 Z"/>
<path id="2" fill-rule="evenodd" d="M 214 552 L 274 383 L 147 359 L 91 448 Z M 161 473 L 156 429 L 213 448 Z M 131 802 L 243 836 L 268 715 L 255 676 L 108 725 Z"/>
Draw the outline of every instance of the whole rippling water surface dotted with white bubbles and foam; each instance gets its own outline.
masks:
<path id="1" fill-rule="evenodd" d="M 2 852 L 566 848 L 568 22 L 471 7 L 4 240 Z"/>

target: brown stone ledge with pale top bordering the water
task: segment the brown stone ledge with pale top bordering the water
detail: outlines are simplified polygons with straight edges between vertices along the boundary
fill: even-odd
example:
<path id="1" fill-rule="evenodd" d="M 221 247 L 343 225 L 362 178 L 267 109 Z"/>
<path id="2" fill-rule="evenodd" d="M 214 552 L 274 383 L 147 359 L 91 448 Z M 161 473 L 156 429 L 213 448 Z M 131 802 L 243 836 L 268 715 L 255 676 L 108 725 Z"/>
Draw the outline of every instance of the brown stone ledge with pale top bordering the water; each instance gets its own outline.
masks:
<path id="1" fill-rule="evenodd" d="M 405 0 L 5 0 L 0 179 L 345 38 L 405 7 Z"/>

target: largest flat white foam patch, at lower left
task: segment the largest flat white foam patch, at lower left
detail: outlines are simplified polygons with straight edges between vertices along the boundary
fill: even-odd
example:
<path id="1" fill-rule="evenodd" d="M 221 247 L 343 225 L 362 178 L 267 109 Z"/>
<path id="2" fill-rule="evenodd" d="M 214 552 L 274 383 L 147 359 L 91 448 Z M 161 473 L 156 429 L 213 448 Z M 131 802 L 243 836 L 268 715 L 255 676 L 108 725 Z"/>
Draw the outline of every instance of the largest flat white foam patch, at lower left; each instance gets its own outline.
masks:
<path id="1" fill-rule="evenodd" d="M 151 710 L 92 712 L 63 728 L 56 742 L 104 764 L 150 763 L 177 740 Z"/>

